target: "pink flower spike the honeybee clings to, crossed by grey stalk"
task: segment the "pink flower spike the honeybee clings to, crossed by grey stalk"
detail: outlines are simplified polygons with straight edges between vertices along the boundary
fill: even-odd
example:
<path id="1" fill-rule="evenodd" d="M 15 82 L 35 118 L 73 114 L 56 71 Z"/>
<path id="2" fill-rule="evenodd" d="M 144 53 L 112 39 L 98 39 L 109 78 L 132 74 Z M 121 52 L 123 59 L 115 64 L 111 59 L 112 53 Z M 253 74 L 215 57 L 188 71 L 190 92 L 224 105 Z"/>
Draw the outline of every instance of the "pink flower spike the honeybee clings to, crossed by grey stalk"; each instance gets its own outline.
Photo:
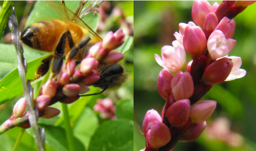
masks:
<path id="1" fill-rule="evenodd" d="M 57 81 L 49 79 L 40 89 L 40 95 L 34 100 L 39 111 L 39 117 L 53 118 L 60 111 L 48 107 L 56 102 L 73 103 L 79 99 L 80 94 L 88 92 L 89 85 L 100 79 L 100 64 L 116 64 L 123 59 L 123 54 L 112 51 L 123 44 L 125 34 L 122 29 L 115 33 L 108 32 L 101 42 L 94 44 L 89 49 L 89 54 L 78 65 L 74 60 L 63 64 Z M 14 126 L 30 127 L 28 123 L 25 98 L 19 99 L 13 107 L 12 116 L 0 126 L 0 131 L 7 131 Z"/>

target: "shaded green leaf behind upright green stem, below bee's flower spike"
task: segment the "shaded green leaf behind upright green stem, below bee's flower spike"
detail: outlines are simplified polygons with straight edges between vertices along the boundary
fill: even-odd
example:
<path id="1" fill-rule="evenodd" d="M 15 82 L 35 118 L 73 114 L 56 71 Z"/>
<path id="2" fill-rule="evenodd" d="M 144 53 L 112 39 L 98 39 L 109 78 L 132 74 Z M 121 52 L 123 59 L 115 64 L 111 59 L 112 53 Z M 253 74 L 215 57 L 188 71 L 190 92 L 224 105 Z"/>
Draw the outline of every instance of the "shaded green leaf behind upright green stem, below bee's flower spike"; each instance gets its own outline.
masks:
<path id="1" fill-rule="evenodd" d="M 61 127 L 54 127 L 49 125 L 41 125 L 45 128 L 45 143 L 53 147 L 57 151 L 69 151 L 65 130 Z M 31 128 L 27 129 L 30 135 L 33 135 Z M 77 139 L 74 138 L 76 144 L 76 151 L 85 151 L 83 144 Z"/>

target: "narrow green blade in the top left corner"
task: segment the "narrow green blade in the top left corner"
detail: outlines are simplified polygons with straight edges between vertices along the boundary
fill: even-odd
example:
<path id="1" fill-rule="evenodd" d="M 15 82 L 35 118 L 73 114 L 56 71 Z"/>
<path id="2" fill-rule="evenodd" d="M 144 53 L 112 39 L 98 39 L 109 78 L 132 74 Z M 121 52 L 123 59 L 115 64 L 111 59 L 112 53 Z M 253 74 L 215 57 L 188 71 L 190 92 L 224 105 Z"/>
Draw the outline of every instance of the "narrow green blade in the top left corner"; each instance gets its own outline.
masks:
<path id="1" fill-rule="evenodd" d="M 0 39 L 8 22 L 9 15 L 12 12 L 13 3 L 14 2 L 12 0 L 4 0 L 4 4 L 0 12 Z"/>

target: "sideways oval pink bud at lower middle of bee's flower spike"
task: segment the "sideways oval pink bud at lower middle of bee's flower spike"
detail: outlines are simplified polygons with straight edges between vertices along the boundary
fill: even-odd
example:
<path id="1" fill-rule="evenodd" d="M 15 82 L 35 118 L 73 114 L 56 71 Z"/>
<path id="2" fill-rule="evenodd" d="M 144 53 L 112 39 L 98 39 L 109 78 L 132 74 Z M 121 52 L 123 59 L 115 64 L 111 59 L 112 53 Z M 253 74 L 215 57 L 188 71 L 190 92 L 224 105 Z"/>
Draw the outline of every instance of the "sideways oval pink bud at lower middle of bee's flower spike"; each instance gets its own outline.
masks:
<path id="1" fill-rule="evenodd" d="M 76 83 L 70 83 L 67 84 L 63 87 L 62 92 L 67 96 L 67 97 L 74 97 L 79 94 L 81 91 L 80 85 Z"/>

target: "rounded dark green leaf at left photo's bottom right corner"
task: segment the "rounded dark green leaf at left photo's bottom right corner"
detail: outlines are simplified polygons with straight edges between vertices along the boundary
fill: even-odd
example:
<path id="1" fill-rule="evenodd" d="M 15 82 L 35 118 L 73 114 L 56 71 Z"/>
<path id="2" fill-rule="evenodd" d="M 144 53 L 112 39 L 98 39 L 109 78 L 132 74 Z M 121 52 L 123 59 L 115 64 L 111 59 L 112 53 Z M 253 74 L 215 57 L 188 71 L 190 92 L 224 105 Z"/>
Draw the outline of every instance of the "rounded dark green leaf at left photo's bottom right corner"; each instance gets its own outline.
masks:
<path id="1" fill-rule="evenodd" d="M 93 135 L 88 151 L 133 151 L 133 121 L 109 120 Z"/>

